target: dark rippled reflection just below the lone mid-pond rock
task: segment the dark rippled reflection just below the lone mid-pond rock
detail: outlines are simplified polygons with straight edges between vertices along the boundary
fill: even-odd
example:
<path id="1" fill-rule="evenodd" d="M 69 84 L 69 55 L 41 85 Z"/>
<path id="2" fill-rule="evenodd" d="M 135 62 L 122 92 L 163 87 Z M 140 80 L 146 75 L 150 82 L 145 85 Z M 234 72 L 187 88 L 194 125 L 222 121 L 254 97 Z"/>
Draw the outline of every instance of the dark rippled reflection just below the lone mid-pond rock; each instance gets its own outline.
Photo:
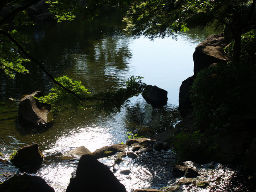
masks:
<path id="1" fill-rule="evenodd" d="M 150 136 L 166 131 L 180 120 L 177 107 L 165 105 L 154 108 L 143 100 L 133 106 L 126 106 L 126 129 L 138 133 L 140 136 Z"/>

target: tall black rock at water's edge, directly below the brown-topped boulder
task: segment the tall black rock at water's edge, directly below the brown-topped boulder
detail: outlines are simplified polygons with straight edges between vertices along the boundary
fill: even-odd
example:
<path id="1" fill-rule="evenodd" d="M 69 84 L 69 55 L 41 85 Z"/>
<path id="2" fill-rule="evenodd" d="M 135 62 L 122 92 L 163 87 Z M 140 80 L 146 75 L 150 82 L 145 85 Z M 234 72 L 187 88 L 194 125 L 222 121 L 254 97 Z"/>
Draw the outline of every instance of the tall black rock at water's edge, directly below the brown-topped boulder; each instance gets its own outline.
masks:
<path id="1" fill-rule="evenodd" d="M 189 114 L 193 107 L 191 105 L 191 101 L 189 99 L 191 86 L 195 80 L 195 75 L 187 78 L 181 83 L 181 87 L 179 87 L 179 112 L 181 117 L 184 118 L 187 114 Z"/>

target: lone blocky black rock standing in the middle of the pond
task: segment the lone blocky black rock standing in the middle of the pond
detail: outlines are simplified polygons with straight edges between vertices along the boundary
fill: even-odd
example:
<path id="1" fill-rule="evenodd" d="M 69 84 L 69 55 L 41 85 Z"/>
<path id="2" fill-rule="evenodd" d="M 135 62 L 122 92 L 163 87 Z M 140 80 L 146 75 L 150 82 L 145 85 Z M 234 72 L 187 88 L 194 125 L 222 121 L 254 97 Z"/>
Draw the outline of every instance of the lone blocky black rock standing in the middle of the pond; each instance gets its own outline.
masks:
<path id="1" fill-rule="evenodd" d="M 143 98 L 152 105 L 163 106 L 167 103 L 167 91 L 157 86 L 147 85 L 143 92 Z"/>

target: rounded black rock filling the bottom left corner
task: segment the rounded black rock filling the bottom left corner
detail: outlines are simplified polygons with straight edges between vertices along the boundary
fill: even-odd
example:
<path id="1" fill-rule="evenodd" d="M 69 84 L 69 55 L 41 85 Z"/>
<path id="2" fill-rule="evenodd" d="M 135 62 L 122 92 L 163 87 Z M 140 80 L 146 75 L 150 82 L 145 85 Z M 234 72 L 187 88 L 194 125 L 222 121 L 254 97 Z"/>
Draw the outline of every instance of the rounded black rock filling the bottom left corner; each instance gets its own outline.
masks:
<path id="1" fill-rule="evenodd" d="M 43 178 L 32 175 L 14 175 L 0 185 L 1 192 L 55 192 Z"/>

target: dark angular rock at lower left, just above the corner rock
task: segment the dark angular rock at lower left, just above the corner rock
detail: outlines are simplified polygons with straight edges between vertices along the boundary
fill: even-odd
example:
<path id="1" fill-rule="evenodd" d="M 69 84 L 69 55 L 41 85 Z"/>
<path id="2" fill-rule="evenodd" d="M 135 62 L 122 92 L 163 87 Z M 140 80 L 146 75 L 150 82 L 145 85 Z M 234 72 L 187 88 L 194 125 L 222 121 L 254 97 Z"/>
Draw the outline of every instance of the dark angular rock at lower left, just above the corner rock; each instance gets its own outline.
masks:
<path id="1" fill-rule="evenodd" d="M 12 155 L 10 161 L 20 165 L 40 165 L 43 161 L 43 153 L 39 150 L 38 144 L 34 143 L 20 148 Z"/>

